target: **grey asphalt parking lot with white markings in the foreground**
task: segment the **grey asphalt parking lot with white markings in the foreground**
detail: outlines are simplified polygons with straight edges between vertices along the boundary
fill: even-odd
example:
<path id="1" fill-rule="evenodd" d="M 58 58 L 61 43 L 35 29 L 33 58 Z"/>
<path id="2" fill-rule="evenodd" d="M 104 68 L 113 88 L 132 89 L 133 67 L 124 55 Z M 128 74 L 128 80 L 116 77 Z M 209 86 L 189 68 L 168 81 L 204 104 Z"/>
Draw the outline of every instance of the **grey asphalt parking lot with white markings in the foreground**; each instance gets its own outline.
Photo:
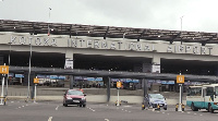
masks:
<path id="1" fill-rule="evenodd" d="M 206 110 L 175 112 L 168 110 L 142 110 L 141 105 L 87 104 L 87 107 L 63 107 L 61 101 L 25 102 L 9 100 L 0 106 L 0 121 L 216 121 L 215 113 Z"/>

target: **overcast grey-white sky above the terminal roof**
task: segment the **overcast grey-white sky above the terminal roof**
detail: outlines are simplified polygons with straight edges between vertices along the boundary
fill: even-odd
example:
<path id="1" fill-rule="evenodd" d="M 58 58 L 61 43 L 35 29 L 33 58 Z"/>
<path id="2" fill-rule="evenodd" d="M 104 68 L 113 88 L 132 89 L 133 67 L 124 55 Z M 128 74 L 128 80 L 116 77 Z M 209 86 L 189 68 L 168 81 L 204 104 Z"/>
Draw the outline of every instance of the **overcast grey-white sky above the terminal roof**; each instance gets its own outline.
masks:
<path id="1" fill-rule="evenodd" d="M 1 0 L 0 0 L 1 1 Z M 50 20 L 49 20 L 49 8 Z M 218 33 L 218 0 L 3 0 L 1 20 Z"/>

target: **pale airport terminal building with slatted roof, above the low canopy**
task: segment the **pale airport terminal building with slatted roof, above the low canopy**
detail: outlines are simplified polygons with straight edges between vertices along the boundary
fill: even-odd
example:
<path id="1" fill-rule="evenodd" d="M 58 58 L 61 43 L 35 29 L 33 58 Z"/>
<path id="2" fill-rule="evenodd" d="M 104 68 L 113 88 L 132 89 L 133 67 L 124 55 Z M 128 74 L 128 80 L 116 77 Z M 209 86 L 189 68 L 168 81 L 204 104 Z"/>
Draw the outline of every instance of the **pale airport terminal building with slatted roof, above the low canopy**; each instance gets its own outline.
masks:
<path id="1" fill-rule="evenodd" d="M 217 33 L 0 20 L 0 64 L 20 68 L 217 76 Z"/>

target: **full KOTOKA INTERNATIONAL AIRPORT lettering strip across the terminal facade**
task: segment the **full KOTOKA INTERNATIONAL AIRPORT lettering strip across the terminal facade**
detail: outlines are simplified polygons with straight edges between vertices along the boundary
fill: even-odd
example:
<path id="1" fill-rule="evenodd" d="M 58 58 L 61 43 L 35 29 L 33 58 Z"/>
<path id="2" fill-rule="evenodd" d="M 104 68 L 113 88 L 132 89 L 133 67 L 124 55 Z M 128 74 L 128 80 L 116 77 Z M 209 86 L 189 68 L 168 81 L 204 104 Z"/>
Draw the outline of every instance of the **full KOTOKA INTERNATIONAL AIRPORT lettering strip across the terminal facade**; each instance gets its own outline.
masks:
<path id="1" fill-rule="evenodd" d="M 166 43 L 133 41 L 133 40 L 105 40 L 105 39 L 78 39 L 78 38 L 51 38 L 37 36 L 11 36 L 11 45 L 33 45 L 33 46 L 52 46 L 71 48 L 93 48 L 109 50 L 132 50 L 132 51 L 155 51 L 171 53 L 191 53 L 191 55 L 217 55 L 213 52 L 211 46 L 199 45 L 169 45 Z M 216 48 L 215 48 L 216 49 Z M 216 50 L 214 50 L 216 51 Z"/>

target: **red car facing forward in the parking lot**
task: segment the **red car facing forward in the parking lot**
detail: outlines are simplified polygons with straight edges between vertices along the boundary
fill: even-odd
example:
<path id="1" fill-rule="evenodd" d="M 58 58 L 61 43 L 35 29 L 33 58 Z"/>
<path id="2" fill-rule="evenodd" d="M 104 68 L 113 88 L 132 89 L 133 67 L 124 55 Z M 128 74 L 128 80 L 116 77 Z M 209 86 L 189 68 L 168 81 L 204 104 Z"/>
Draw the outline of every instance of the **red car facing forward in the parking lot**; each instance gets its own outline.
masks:
<path id="1" fill-rule="evenodd" d="M 78 89 L 68 89 L 63 96 L 63 106 L 77 105 L 80 107 L 86 107 L 86 95 Z"/>

